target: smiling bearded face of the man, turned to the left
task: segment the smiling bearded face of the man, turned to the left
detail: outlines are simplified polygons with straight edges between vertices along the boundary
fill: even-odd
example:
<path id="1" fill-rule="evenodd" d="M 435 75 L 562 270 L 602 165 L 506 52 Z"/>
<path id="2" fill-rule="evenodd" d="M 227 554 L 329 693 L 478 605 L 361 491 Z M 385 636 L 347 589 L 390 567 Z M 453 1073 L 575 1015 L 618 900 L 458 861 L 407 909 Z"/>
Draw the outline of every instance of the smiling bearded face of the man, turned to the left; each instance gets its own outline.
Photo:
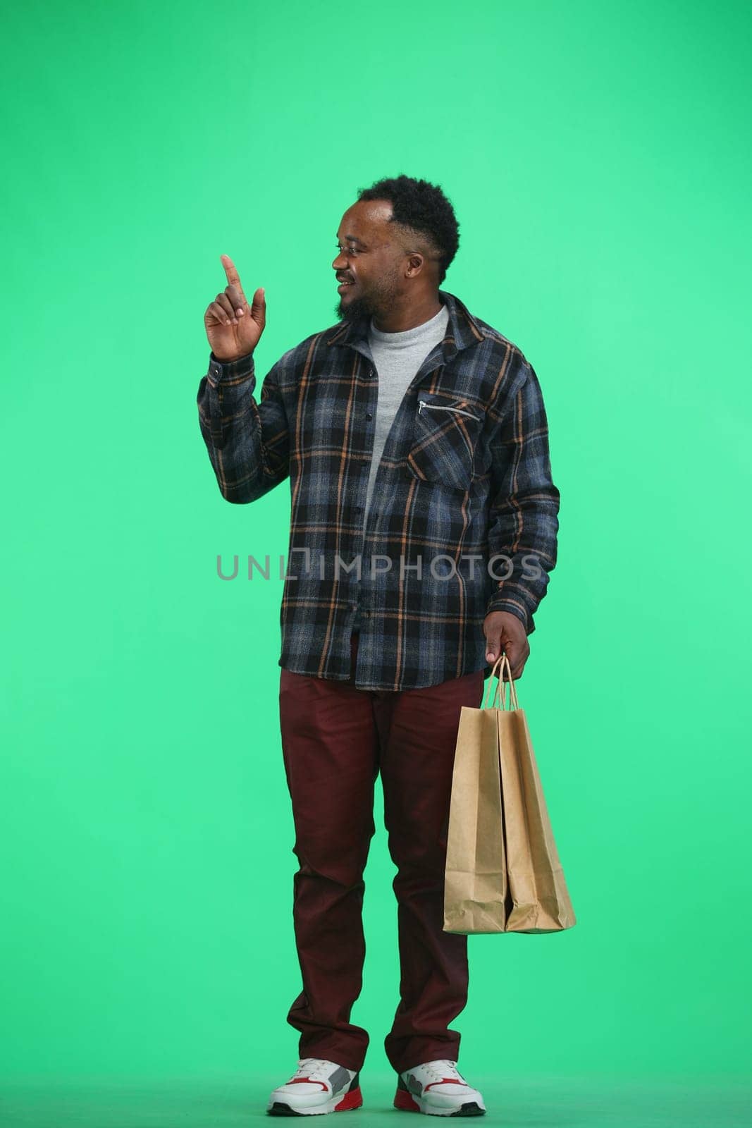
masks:
<path id="1" fill-rule="evenodd" d="M 342 248 L 331 263 L 338 288 L 335 314 L 339 320 L 387 315 L 405 293 L 406 245 L 389 222 L 388 200 L 360 200 L 348 208 L 337 229 Z"/>

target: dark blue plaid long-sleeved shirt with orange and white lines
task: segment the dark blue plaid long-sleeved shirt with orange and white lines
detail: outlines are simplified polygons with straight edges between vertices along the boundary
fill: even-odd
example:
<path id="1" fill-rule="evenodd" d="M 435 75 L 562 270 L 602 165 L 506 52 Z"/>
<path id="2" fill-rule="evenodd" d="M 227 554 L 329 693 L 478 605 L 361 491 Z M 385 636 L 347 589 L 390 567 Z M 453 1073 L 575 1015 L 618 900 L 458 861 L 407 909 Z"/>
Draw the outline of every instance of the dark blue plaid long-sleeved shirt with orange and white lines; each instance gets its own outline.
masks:
<path id="1" fill-rule="evenodd" d="M 350 677 L 359 603 L 360 689 L 488 677 L 490 611 L 534 631 L 559 510 L 538 378 L 506 337 L 453 294 L 439 297 L 446 334 L 397 411 L 365 528 L 379 390 L 369 319 L 284 353 L 258 400 L 251 355 L 210 354 L 196 399 L 222 496 L 244 504 L 290 479 L 277 664 L 295 673 Z"/>

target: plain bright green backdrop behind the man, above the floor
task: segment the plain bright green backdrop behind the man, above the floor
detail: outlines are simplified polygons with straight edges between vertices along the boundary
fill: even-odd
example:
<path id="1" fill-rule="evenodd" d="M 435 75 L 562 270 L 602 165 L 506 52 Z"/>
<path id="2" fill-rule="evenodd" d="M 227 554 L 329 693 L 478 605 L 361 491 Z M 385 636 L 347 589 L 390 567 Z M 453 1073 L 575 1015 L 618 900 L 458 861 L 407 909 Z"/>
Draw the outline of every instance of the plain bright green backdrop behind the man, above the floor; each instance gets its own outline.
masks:
<path id="1" fill-rule="evenodd" d="M 470 937 L 460 1066 L 487 1098 L 743 1085 L 751 23 L 646 0 L 6 17 L 9 1086 L 236 1077 L 247 1112 L 294 1065 L 282 581 L 216 575 L 286 552 L 289 488 L 221 499 L 203 311 L 230 254 L 266 287 L 267 371 L 336 320 L 342 214 L 398 173 L 452 200 L 444 288 L 534 365 L 561 492 L 519 696 L 577 925 Z M 377 794 L 353 1021 L 388 1108 Z M 542 1090 L 514 1092 L 527 1122 Z"/>

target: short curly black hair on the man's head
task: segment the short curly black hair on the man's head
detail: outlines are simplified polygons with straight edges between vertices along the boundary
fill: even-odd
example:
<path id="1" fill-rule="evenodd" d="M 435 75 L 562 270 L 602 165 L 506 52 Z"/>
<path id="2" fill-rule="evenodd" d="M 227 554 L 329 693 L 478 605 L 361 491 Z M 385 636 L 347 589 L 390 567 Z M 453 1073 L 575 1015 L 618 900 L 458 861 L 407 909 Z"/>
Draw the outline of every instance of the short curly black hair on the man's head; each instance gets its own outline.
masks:
<path id="1" fill-rule="evenodd" d="M 444 281 L 460 245 L 460 227 L 454 209 L 437 184 L 405 175 L 384 177 L 369 188 L 359 188 L 357 199 L 389 200 L 390 222 L 427 236 L 439 256 L 439 283 Z"/>

